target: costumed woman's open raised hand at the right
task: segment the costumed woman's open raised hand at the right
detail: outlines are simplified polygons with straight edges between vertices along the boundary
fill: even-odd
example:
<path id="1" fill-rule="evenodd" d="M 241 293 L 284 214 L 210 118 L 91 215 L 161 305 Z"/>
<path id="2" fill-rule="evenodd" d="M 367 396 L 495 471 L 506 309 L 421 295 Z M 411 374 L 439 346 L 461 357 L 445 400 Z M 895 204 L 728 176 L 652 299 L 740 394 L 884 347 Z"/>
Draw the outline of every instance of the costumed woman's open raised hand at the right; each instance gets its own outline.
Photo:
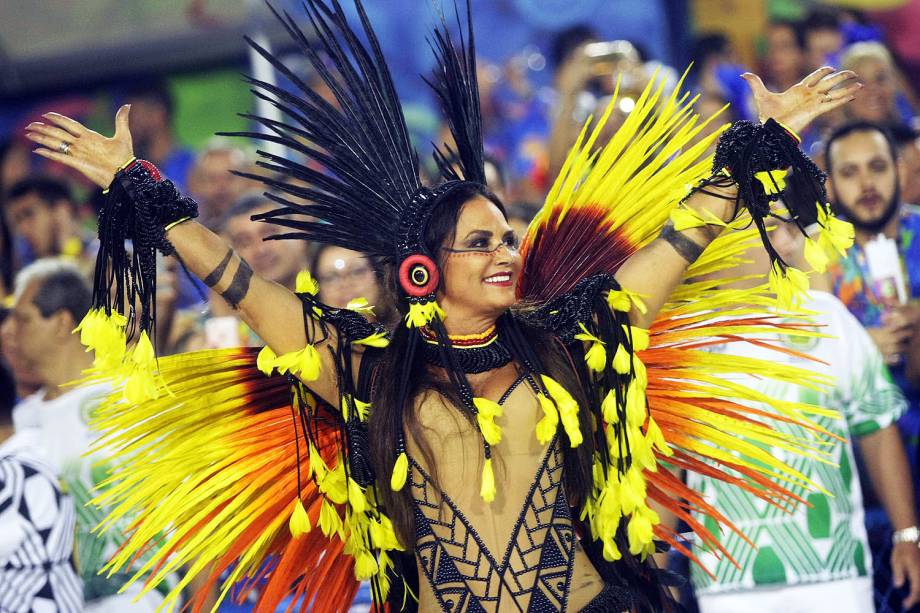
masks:
<path id="1" fill-rule="evenodd" d="M 754 73 L 746 72 L 741 78 L 751 88 L 761 122 L 773 118 L 796 132 L 804 130 L 819 115 L 852 100 L 862 87 L 852 70 L 838 72 L 829 66 L 778 94 L 768 90 Z"/>

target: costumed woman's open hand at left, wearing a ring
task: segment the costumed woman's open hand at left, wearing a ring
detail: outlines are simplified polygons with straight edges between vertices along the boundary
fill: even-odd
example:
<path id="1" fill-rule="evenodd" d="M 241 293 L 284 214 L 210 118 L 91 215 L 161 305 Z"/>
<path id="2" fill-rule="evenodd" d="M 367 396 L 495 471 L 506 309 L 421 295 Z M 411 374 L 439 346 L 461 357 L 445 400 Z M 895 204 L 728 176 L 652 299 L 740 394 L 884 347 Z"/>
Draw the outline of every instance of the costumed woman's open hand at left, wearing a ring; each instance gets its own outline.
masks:
<path id="1" fill-rule="evenodd" d="M 130 105 L 115 114 L 115 136 L 107 138 L 87 129 L 79 121 L 57 113 L 42 115 L 49 123 L 26 126 L 26 137 L 39 144 L 35 153 L 80 171 L 102 188 L 107 188 L 118 169 L 134 157 L 128 130 Z"/>

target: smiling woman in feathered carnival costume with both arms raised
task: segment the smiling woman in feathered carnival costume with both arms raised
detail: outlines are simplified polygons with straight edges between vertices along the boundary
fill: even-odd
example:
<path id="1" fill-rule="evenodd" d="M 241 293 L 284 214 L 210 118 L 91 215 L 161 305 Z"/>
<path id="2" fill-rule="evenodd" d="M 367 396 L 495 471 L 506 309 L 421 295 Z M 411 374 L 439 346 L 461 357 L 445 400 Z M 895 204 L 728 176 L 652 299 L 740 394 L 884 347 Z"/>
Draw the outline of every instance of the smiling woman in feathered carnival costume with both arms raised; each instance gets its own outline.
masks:
<path id="1" fill-rule="evenodd" d="M 485 185 L 469 6 L 459 42 L 443 23 L 431 38 L 431 85 L 455 146 L 436 150 L 442 180 L 424 186 L 355 5 L 360 32 L 337 0 L 306 1 L 310 36 L 278 15 L 335 104 L 250 41 L 298 92 L 252 80 L 287 119 L 251 116 L 266 130 L 245 136 L 318 163 L 262 153 L 271 175 L 252 178 L 279 206 L 257 220 L 284 228 L 274 238 L 373 257 L 404 317 L 394 330 L 369 323 L 360 302 L 322 304 L 308 275 L 296 293 L 253 275 L 193 221 L 192 200 L 134 159 L 127 108 L 112 138 L 56 114 L 28 127 L 40 155 L 108 189 L 95 309 L 79 330 L 94 376 L 118 385 L 95 416 L 99 445 L 121 458 L 97 502 L 107 522 L 135 522 L 110 569 L 147 560 L 138 576 L 152 589 L 184 567 L 172 600 L 194 576 L 213 585 L 226 573 L 222 597 L 263 584 L 261 611 L 289 594 L 301 610 L 345 611 L 360 580 L 390 611 L 666 610 L 649 554 L 656 543 L 686 548 L 653 506 L 716 549 L 688 510 L 722 518 L 659 462 L 795 504 L 783 480 L 804 478 L 762 445 L 820 454 L 826 434 L 811 419 L 820 409 L 805 405 L 775 404 L 770 417 L 814 439 L 772 430 L 744 404 L 765 399 L 718 376 L 820 384 L 805 371 L 713 363 L 700 350 L 777 326 L 807 334 L 739 306 L 771 300 L 767 287 L 740 296 L 678 284 L 731 265 L 759 231 L 775 262 L 770 291 L 794 307 L 807 281 L 763 223 L 790 173 L 810 192 L 796 190 L 809 197 L 786 202 L 789 215 L 822 213 L 815 265 L 845 248 L 848 228 L 830 216 L 794 131 L 851 99 L 854 75 L 822 69 L 781 94 L 746 75 L 764 123 L 728 127 L 714 162 L 699 159 L 708 140 L 690 145 L 706 123 L 693 100 L 651 83 L 609 143 L 596 143 L 606 116 L 586 128 L 519 247 Z M 735 225 L 752 230 L 716 238 Z M 157 251 L 179 257 L 268 346 L 157 359 Z"/>

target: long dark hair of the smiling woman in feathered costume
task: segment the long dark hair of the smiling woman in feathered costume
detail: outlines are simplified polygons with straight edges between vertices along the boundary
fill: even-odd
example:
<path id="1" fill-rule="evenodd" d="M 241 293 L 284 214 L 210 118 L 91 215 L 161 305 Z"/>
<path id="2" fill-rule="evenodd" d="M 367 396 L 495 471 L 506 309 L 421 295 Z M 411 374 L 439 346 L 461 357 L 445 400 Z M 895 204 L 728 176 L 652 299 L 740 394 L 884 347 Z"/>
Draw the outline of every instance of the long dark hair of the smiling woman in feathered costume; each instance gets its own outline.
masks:
<path id="1" fill-rule="evenodd" d="M 454 239 L 457 220 L 463 205 L 477 196 L 485 197 L 505 214 L 501 202 L 484 187 L 475 184 L 462 184 L 451 190 L 435 205 L 424 236 L 425 248 L 430 253 L 439 253 L 440 247 L 450 244 Z M 439 261 L 439 265 L 443 262 Z M 398 279 L 392 270 L 388 270 L 385 279 L 386 289 L 394 296 L 401 296 Z M 407 304 L 401 301 L 399 309 L 407 310 Z M 562 347 L 550 335 L 525 329 L 524 324 L 511 314 L 499 318 L 498 330 L 507 343 L 511 355 L 519 368 L 529 368 L 534 374 L 546 373 L 559 381 L 580 406 L 587 406 L 584 389 L 576 373 L 573 362 Z M 371 447 L 371 459 L 377 474 L 378 491 L 387 515 L 393 521 L 400 542 L 408 550 L 414 548 L 415 516 L 411 488 L 407 485 L 400 492 L 390 488 L 390 474 L 396 461 L 398 451 L 395 441 L 400 440 L 403 432 L 411 436 L 425 460 L 432 467 L 432 478 L 438 485 L 434 454 L 425 440 L 423 428 L 419 424 L 415 403 L 423 393 L 435 393 L 445 398 L 457 409 L 459 416 L 473 424 L 473 417 L 466 410 L 457 386 L 450 377 L 439 377 L 426 364 L 421 351 L 416 351 L 419 342 L 417 330 L 405 325 L 398 325 L 390 339 L 390 344 L 375 368 L 370 397 L 371 411 L 368 428 Z M 403 395 L 400 382 L 407 377 L 407 393 Z M 590 421 L 585 411 L 580 412 L 583 432 L 590 432 Z M 594 445 L 591 436 L 585 436 L 583 444 L 572 449 L 567 443 L 565 449 L 565 486 L 572 505 L 581 504 L 589 493 L 591 486 L 591 466 Z"/>

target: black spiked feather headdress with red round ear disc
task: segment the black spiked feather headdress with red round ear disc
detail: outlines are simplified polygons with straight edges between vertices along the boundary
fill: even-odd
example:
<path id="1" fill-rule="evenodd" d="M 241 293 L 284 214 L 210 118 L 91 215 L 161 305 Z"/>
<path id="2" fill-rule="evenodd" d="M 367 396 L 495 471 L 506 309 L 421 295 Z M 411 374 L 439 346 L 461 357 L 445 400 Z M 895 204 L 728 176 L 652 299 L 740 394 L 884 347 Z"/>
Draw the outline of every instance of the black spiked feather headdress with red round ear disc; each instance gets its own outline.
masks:
<path id="1" fill-rule="evenodd" d="M 312 37 L 287 12 L 271 8 L 335 102 L 325 100 L 281 59 L 247 38 L 298 91 L 248 79 L 254 95 L 278 108 L 286 120 L 245 114 L 266 132 L 228 135 L 276 143 L 321 166 L 260 151 L 258 166 L 273 176 L 238 173 L 266 184 L 272 190 L 268 198 L 280 205 L 253 218 L 287 230 L 271 238 L 333 244 L 394 266 L 410 325 L 424 325 L 438 312 L 434 300 L 440 282 L 436 254 L 429 253 L 422 240 L 431 212 L 461 185 L 485 189 L 469 0 L 467 37 L 461 33 L 455 43 L 442 20 L 429 40 L 436 68 L 427 82 L 441 102 L 456 144 L 456 150 L 449 145 L 436 148 L 444 181 L 433 187 L 422 185 L 418 154 L 379 41 L 361 0 L 354 3 L 366 42 L 349 26 L 339 0 L 304 2 Z M 456 14 L 462 32 L 459 10 Z"/>

